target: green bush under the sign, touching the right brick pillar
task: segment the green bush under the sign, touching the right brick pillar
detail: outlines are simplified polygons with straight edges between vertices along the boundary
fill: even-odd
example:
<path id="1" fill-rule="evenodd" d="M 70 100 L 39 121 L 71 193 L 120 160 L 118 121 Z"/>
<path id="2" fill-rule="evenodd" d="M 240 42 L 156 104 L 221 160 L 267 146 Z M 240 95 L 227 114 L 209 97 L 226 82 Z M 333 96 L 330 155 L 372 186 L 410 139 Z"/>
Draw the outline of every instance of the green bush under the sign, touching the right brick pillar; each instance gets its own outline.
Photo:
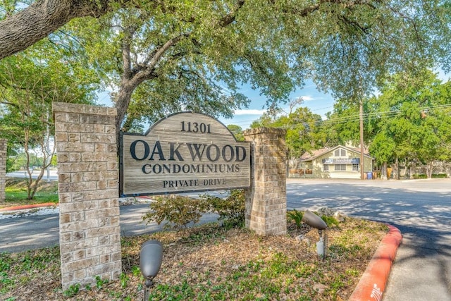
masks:
<path id="1" fill-rule="evenodd" d="M 230 226 L 242 226 L 245 222 L 245 190 L 230 190 L 226 198 L 202 195 L 211 211 L 219 215 L 219 219 Z"/>

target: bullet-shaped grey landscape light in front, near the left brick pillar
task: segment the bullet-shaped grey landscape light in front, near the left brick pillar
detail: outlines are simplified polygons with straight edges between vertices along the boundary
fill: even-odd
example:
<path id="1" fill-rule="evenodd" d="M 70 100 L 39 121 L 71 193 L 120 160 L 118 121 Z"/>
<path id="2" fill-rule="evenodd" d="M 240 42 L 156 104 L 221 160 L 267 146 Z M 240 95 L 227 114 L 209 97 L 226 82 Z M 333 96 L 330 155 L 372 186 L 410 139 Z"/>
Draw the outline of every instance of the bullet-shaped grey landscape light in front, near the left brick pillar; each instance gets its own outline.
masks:
<path id="1" fill-rule="evenodd" d="M 163 261 L 163 245 L 158 240 L 147 240 L 141 246 L 140 269 L 142 276 L 146 279 L 144 300 L 149 300 L 149 290 L 152 288 L 153 279 L 158 274 Z"/>

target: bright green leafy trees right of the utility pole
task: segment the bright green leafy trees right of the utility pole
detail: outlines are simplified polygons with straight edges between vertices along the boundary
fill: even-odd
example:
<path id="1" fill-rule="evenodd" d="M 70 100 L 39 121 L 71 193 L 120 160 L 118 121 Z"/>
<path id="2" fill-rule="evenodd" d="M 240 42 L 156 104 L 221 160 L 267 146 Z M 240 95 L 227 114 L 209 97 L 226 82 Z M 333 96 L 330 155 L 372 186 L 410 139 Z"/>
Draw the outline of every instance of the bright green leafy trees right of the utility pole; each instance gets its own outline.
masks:
<path id="1" fill-rule="evenodd" d="M 384 112 L 376 122 L 378 133 L 370 146 L 378 162 L 409 158 L 433 164 L 439 158 L 449 160 L 450 82 L 442 84 L 429 70 L 415 75 L 399 73 L 382 92 L 370 99 L 374 111 Z"/>

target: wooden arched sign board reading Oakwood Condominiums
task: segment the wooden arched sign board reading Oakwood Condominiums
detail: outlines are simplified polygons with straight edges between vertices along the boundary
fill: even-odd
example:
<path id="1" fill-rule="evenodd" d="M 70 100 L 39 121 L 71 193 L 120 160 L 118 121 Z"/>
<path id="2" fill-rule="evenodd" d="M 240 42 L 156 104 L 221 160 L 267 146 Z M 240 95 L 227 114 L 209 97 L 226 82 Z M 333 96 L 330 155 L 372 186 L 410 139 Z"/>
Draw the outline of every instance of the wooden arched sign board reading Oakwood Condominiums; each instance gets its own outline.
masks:
<path id="1" fill-rule="evenodd" d="M 203 114 L 175 113 L 120 143 L 121 197 L 250 186 L 249 142 Z"/>

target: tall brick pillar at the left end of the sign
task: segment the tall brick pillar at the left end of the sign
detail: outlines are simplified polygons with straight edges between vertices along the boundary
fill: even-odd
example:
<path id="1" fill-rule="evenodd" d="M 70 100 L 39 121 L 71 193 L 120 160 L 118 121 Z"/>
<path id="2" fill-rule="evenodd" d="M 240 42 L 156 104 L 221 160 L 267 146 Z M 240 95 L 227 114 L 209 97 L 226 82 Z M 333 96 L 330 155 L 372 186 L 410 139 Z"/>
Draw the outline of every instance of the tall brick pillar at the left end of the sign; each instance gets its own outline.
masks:
<path id="1" fill-rule="evenodd" d="M 54 103 L 63 289 L 122 270 L 116 109 Z"/>

